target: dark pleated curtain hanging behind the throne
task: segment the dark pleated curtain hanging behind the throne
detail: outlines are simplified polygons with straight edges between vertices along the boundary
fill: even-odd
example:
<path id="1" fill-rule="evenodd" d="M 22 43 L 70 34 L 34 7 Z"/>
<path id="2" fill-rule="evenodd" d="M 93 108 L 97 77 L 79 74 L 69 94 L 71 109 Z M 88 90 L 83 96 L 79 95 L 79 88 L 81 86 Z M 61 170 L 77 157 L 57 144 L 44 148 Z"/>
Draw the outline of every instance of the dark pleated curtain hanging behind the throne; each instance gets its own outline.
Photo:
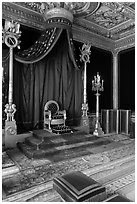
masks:
<path id="1" fill-rule="evenodd" d="M 21 63 L 16 55 L 13 103 L 17 107 L 18 128 L 41 128 L 48 100 L 56 100 L 60 109 L 67 111 L 68 119 L 81 116 L 82 73 L 75 62 L 70 39 L 70 32 L 62 30 L 54 48 L 33 63 Z"/>

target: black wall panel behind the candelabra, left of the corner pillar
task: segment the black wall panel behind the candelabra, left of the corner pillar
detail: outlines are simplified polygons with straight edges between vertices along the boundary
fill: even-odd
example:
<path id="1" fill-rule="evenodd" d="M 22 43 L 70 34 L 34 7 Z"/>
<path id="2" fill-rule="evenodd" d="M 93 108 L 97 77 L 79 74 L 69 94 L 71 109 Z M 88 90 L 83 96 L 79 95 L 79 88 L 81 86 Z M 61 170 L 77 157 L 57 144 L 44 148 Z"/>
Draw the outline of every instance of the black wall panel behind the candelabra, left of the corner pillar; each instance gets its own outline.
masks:
<path id="1" fill-rule="evenodd" d="M 111 73 L 111 53 L 95 47 L 91 47 L 90 64 L 87 67 L 87 100 L 89 111 L 96 110 L 95 91 L 92 91 L 92 80 L 99 72 L 101 79 L 104 80 L 104 91 L 100 92 L 99 107 L 101 109 L 112 108 L 112 73 Z"/>

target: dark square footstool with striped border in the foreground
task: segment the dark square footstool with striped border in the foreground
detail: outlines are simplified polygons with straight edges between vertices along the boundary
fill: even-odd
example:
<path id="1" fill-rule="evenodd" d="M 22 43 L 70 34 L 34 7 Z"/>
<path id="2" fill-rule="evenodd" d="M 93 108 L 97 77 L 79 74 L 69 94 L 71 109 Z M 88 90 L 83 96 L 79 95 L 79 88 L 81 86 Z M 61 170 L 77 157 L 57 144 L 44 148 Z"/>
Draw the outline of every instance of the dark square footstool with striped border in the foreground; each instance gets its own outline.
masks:
<path id="1" fill-rule="evenodd" d="M 54 178 L 53 188 L 66 202 L 101 202 L 107 198 L 105 187 L 80 171 Z"/>

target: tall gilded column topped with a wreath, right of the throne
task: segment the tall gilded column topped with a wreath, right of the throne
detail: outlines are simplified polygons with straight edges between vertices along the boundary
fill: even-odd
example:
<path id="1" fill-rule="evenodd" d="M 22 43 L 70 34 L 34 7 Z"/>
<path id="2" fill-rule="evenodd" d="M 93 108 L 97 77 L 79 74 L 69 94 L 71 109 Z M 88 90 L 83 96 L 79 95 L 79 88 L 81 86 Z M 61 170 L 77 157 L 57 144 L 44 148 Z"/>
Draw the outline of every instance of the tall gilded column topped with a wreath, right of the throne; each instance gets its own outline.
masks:
<path id="1" fill-rule="evenodd" d="M 87 104 L 87 63 L 90 62 L 89 60 L 89 55 L 91 53 L 90 51 L 91 45 L 89 43 L 83 44 L 82 49 L 81 49 L 81 61 L 84 62 L 84 76 L 83 76 L 83 84 L 84 84 L 84 99 L 83 99 L 83 104 L 82 104 L 82 117 L 81 117 L 81 126 L 86 127 L 85 130 L 86 132 L 89 132 L 89 119 L 87 115 L 88 111 L 88 104 Z"/>

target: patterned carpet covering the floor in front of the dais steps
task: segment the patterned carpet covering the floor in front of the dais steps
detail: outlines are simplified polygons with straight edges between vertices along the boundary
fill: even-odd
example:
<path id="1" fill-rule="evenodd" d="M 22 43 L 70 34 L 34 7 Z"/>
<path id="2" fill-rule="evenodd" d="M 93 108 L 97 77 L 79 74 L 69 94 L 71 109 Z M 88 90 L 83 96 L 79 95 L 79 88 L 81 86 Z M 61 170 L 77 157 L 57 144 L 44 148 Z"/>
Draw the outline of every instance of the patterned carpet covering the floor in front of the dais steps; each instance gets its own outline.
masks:
<path id="1" fill-rule="evenodd" d="M 56 162 L 51 158 L 31 160 L 17 148 L 8 150 L 5 155 L 9 155 L 9 159 L 3 159 L 3 170 L 8 168 L 6 165 L 14 164 L 18 172 L 3 178 L 3 201 L 60 202 L 60 198 L 52 189 L 53 178 L 77 170 L 96 180 L 99 179 L 109 189 L 108 195 L 115 192 L 116 189 L 113 187 L 116 186 L 118 177 L 122 179 L 123 176 L 123 181 L 131 180 L 131 183 L 134 183 L 134 140 L 123 135 L 104 137 L 104 140 L 108 139 L 111 139 L 111 142 L 101 146 L 92 146 L 92 148 L 89 145 L 85 146 L 86 151 L 89 152 L 88 155 L 76 155 L 75 158 L 67 157 Z M 112 174 L 115 174 L 113 182 Z M 109 182 L 109 175 L 111 182 Z"/>

